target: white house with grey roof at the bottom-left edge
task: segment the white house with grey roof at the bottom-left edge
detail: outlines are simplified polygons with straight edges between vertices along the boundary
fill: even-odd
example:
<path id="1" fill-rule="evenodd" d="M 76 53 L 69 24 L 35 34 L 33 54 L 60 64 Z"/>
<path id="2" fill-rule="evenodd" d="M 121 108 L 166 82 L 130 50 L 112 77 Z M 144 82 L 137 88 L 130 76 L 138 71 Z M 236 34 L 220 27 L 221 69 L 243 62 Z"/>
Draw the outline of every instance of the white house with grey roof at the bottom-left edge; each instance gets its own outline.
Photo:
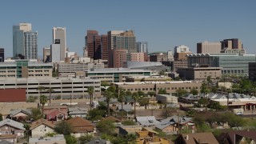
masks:
<path id="1" fill-rule="evenodd" d="M 5 120 L 0 122 L 0 135 L 14 134 L 18 138 L 23 138 L 25 131 L 25 128 L 23 126 L 24 125 L 21 122 L 16 122 L 14 120 L 6 118 Z"/>

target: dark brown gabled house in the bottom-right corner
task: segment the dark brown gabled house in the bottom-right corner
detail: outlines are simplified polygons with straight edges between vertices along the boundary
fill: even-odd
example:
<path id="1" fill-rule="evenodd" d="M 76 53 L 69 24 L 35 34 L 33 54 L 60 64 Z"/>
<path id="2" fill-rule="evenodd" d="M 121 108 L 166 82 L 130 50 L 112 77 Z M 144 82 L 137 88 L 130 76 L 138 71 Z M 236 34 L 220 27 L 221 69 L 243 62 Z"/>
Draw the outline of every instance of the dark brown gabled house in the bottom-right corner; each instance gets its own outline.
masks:
<path id="1" fill-rule="evenodd" d="M 256 143 L 256 131 L 238 130 L 222 133 L 218 137 L 218 142 L 221 144 Z"/>

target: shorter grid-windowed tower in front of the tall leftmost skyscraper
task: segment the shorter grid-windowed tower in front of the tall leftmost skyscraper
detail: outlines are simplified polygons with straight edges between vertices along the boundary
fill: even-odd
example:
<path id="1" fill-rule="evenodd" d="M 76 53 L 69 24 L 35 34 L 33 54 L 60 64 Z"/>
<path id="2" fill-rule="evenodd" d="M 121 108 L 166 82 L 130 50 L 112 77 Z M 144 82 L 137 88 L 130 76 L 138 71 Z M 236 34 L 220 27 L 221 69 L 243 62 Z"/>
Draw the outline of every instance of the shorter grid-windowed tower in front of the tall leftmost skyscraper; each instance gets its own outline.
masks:
<path id="1" fill-rule="evenodd" d="M 25 58 L 38 59 L 38 32 L 28 31 L 24 33 Z"/>

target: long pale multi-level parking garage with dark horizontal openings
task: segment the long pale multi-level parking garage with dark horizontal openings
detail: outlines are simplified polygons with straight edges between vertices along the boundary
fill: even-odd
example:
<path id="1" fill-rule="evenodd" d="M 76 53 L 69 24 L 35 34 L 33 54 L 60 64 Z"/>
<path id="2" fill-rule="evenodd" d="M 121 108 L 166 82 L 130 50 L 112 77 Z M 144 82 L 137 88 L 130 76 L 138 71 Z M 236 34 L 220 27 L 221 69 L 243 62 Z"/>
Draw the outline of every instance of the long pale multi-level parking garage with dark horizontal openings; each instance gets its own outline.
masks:
<path id="1" fill-rule="evenodd" d="M 101 82 L 91 78 L 6 78 L 0 79 L 1 89 L 25 89 L 26 97 L 39 97 L 38 86 L 46 90 L 53 89 L 51 98 L 61 96 L 62 98 L 84 98 L 88 94 L 88 87 L 94 86 L 94 96 L 100 96 Z M 50 95 L 46 90 L 42 94 Z"/>

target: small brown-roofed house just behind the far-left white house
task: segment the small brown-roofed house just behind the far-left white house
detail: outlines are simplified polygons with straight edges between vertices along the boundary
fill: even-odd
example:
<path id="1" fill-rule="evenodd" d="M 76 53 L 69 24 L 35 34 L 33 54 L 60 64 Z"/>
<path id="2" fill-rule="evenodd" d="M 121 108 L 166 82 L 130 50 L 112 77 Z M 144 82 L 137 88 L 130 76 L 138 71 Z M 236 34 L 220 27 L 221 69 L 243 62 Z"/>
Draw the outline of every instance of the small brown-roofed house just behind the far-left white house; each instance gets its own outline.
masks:
<path id="1" fill-rule="evenodd" d="M 6 118 L 10 118 L 14 121 L 22 122 L 25 121 L 29 118 L 31 114 L 30 109 L 22 110 L 22 109 L 17 109 L 17 110 L 10 110 L 10 114 L 7 115 Z"/>

